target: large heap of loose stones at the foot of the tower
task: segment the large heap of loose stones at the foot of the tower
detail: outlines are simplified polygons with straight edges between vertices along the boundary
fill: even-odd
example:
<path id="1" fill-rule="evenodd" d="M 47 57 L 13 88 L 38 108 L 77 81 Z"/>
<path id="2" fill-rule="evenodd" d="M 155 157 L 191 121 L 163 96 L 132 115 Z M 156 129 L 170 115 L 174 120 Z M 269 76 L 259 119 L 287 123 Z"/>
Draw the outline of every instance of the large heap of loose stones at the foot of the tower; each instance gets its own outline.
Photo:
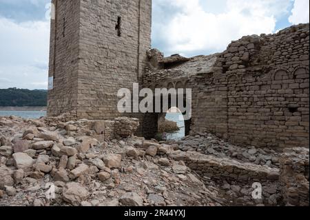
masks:
<path id="1" fill-rule="evenodd" d="M 223 203 L 185 163 L 167 158 L 174 148 L 134 137 L 136 119 L 58 120 L 0 119 L 0 206 Z"/>

